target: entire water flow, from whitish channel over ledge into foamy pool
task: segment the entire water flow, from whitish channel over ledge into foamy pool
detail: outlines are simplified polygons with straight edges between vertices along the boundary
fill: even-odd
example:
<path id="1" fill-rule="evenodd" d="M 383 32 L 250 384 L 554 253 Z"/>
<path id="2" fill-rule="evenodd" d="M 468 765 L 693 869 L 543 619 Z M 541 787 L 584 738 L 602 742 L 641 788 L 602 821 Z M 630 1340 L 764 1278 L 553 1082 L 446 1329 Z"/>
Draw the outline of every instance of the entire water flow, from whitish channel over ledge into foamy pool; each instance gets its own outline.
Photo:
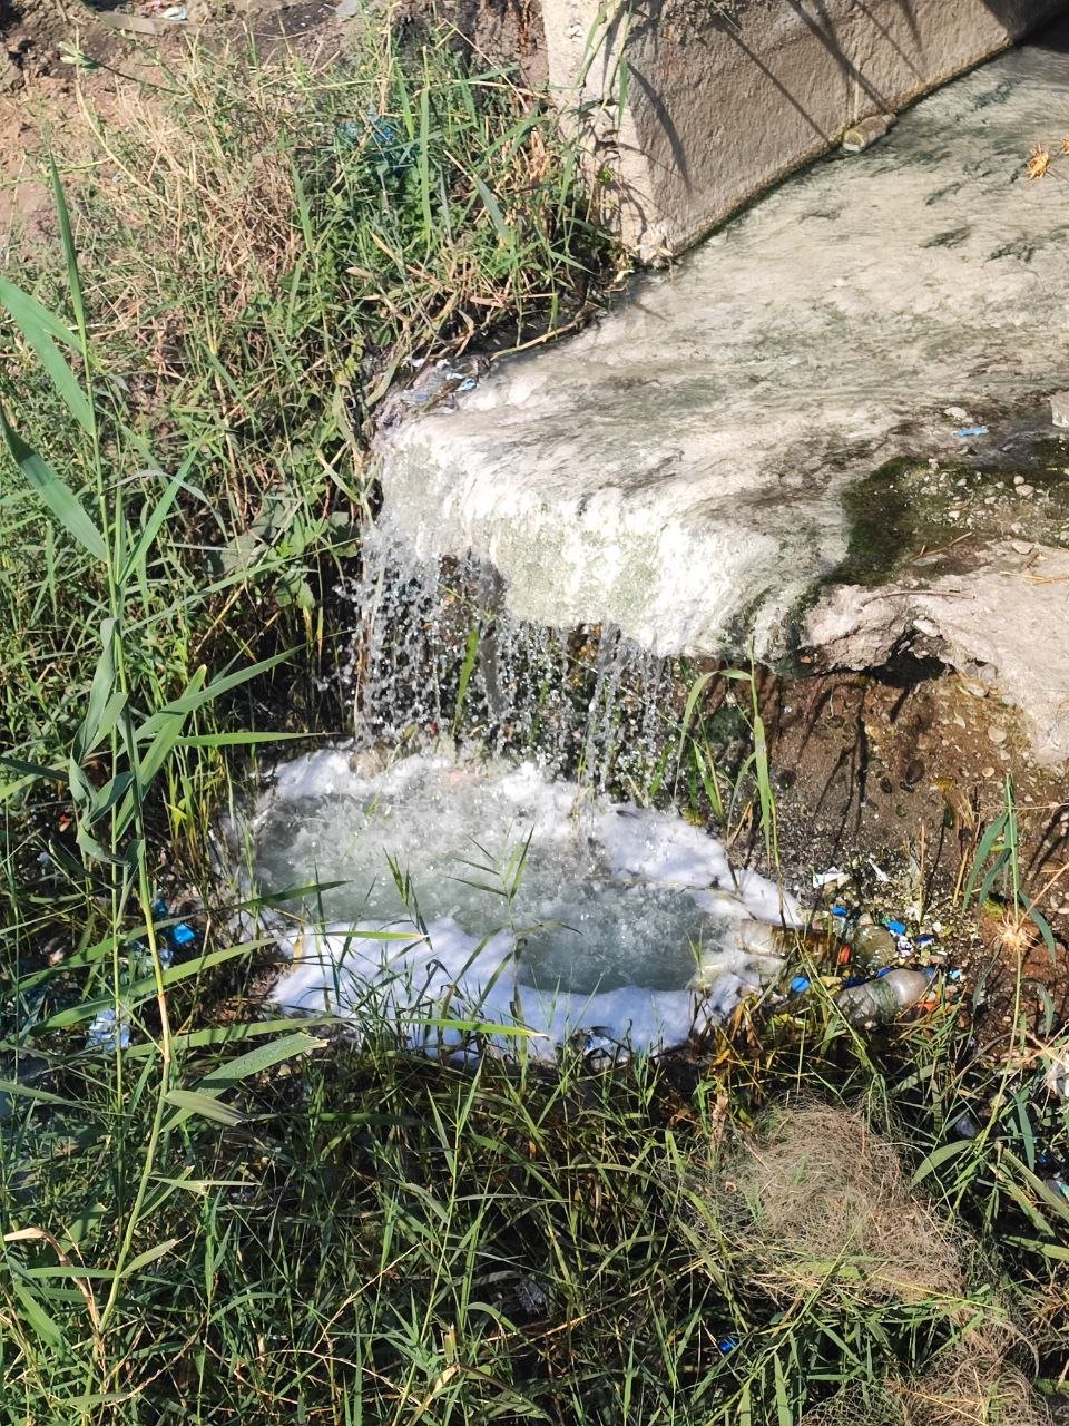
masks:
<path id="1" fill-rule="evenodd" d="M 1069 384 L 1069 221 L 1021 181 L 1066 81 L 998 60 L 388 436 L 339 590 L 356 736 L 275 769 L 245 827 L 257 887 L 315 884 L 281 1005 L 552 1055 L 678 1044 L 778 974 L 794 906 L 637 806 L 676 771 L 671 656 L 774 649 L 875 465 Z M 480 757 L 440 752 L 462 732 Z"/>

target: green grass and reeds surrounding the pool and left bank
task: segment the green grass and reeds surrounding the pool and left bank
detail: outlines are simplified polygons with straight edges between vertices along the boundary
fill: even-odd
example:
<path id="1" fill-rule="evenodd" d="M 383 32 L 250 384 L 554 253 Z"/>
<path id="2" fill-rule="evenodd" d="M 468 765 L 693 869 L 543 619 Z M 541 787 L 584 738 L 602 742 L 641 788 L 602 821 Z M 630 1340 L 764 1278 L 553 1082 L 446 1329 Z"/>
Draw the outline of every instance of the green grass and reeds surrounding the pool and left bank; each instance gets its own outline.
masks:
<path id="1" fill-rule="evenodd" d="M 239 907 L 210 897 L 197 954 L 167 954 L 154 903 L 210 888 L 229 759 L 339 716 L 311 674 L 373 499 L 368 415 L 408 356 L 569 321 L 606 261 L 506 76 L 440 37 L 365 46 L 239 84 L 197 56 L 98 131 L 73 217 L 56 175 L 60 265 L 0 287 L 0 1422 L 787 1426 L 847 1389 L 892 1412 L 982 1329 L 1012 1336 L 999 1370 L 909 1420 L 1019 1426 L 999 1372 L 1035 1375 L 1031 1343 L 1043 1376 L 1065 1326 L 1069 1205 L 1040 1161 L 1065 1111 L 1040 1057 L 972 1055 L 965 1007 L 869 1042 L 818 991 L 610 1072 L 477 1054 L 476 1027 L 458 1067 L 388 1025 L 265 1018 Z M 774 860 L 753 679 L 733 786 L 707 686 L 673 766 Z M 966 896 L 999 878 L 1016 897 L 1012 804 Z M 802 1095 L 907 1141 L 976 1256 L 888 1289 L 844 1242 L 771 1281 L 728 1171 Z M 894 1188 L 877 1206 L 921 1214 Z"/>

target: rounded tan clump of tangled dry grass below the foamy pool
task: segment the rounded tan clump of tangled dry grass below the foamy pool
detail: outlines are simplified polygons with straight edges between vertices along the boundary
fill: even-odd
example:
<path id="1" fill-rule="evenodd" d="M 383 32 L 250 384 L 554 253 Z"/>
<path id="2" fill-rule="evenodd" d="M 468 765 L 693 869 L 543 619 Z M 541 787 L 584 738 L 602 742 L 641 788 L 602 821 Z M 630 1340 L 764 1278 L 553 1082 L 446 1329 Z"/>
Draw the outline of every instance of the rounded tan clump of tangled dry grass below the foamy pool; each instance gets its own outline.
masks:
<path id="1" fill-rule="evenodd" d="M 716 1185 L 724 1236 L 773 1298 L 835 1283 L 861 1302 L 965 1293 L 961 1235 L 916 1198 L 898 1151 L 858 1114 L 770 1117 Z"/>

